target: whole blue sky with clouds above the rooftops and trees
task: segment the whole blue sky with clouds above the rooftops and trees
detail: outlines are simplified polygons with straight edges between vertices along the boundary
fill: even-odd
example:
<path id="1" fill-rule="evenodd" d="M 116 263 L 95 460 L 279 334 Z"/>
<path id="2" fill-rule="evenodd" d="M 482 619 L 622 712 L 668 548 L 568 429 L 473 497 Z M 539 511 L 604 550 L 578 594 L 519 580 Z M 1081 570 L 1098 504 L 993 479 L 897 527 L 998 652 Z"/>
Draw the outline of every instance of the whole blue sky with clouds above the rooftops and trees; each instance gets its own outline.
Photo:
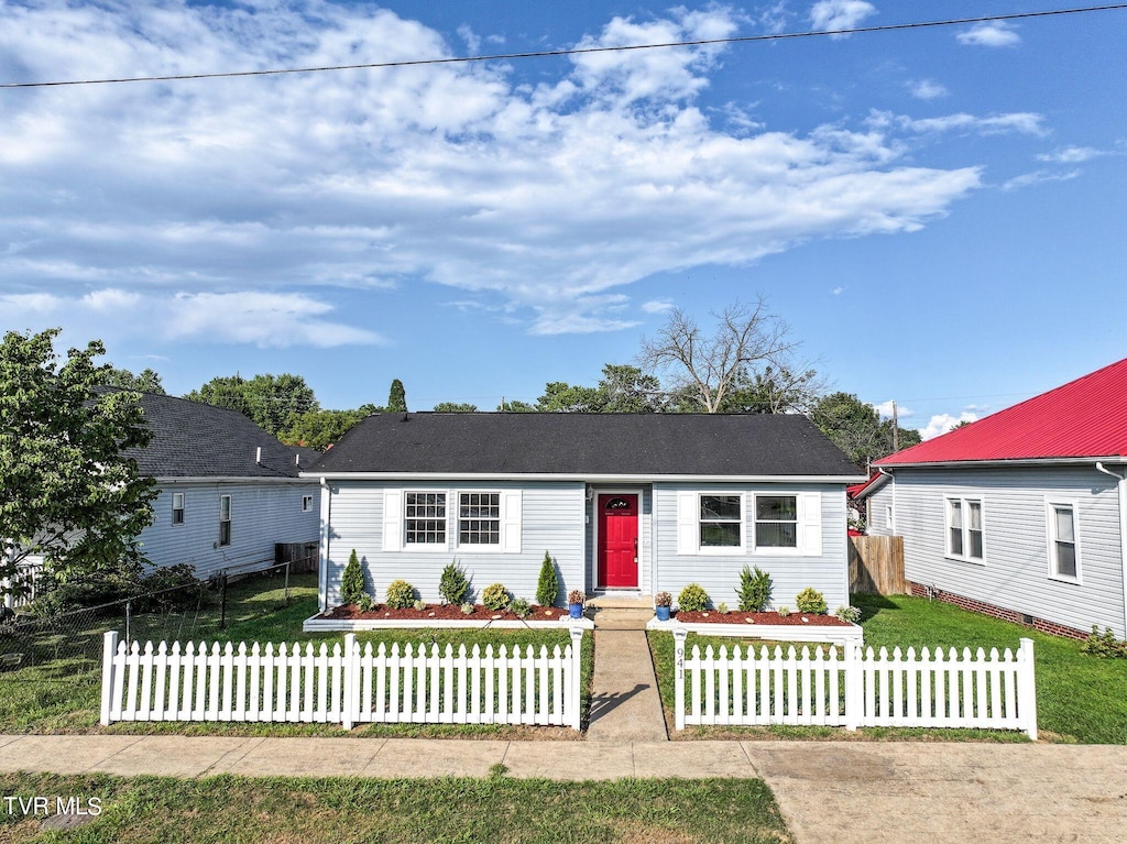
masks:
<path id="1" fill-rule="evenodd" d="M 1056 8 L 0 2 L 0 81 L 354 64 Z M 325 407 L 594 384 L 762 294 L 929 434 L 1127 354 L 1127 12 L 0 90 L 0 329 Z"/>

